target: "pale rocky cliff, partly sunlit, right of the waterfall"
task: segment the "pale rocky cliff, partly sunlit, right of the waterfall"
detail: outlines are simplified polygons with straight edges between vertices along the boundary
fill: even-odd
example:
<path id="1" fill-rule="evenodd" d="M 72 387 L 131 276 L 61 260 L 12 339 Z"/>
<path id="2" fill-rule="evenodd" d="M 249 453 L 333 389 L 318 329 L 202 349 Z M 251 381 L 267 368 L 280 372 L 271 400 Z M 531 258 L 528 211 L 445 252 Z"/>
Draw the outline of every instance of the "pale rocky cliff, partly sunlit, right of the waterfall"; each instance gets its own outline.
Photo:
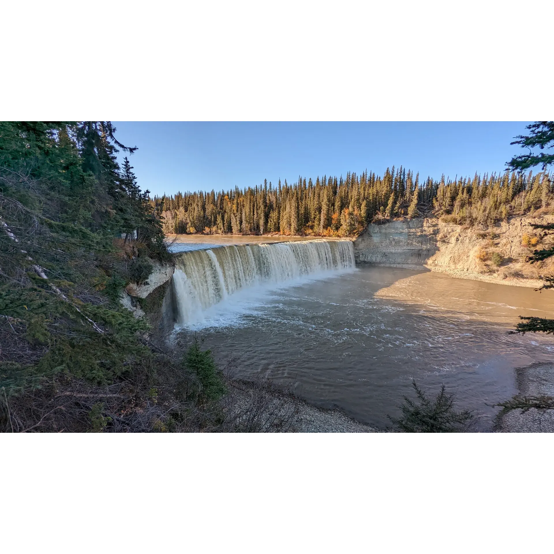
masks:
<path id="1" fill-rule="evenodd" d="M 354 241 L 356 263 L 427 268 L 461 279 L 540 286 L 554 273 L 554 260 L 529 264 L 534 249 L 550 247 L 529 223 L 553 223 L 554 216 L 514 217 L 490 227 L 456 225 L 438 218 L 397 220 L 369 227 Z"/>

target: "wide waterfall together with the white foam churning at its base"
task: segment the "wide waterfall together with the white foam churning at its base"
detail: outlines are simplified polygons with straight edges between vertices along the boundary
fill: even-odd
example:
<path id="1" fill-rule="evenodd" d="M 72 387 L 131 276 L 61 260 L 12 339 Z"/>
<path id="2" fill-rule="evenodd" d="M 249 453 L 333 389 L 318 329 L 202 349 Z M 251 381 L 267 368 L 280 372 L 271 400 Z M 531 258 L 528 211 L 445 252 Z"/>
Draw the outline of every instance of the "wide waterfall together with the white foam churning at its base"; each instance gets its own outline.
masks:
<path id="1" fill-rule="evenodd" d="M 184 252 L 173 287 L 177 328 L 237 325 L 268 294 L 355 270 L 350 240 L 222 246 Z"/>

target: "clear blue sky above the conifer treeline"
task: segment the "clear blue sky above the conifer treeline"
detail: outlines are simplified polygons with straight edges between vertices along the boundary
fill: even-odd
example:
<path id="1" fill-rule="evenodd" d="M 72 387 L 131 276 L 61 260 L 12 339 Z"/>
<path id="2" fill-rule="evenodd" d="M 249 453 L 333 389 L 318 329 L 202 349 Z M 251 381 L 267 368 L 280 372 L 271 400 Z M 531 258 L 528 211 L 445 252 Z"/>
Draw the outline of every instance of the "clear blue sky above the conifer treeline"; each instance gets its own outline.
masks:
<path id="1" fill-rule="evenodd" d="M 454 178 L 504 171 L 529 122 L 114 122 L 138 146 L 131 165 L 151 194 L 295 182 L 299 175 L 382 175 L 387 167 Z M 122 152 L 120 152 L 120 158 Z"/>

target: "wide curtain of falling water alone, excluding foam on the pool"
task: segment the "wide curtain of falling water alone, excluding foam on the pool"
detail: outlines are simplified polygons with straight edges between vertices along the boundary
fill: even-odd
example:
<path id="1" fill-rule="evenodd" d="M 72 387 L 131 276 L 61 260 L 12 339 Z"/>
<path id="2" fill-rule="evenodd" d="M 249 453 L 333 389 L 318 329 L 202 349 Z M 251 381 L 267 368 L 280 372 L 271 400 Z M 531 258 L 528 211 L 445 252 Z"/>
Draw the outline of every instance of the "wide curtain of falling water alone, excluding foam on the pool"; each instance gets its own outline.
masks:
<path id="1" fill-rule="evenodd" d="M 176 319 L 180 325 L 201 321 L 209 307 L 250 287 L 280 286 L 354 267 L 350 240 L 242 244 L 183 252 L 173 274 Z"/>

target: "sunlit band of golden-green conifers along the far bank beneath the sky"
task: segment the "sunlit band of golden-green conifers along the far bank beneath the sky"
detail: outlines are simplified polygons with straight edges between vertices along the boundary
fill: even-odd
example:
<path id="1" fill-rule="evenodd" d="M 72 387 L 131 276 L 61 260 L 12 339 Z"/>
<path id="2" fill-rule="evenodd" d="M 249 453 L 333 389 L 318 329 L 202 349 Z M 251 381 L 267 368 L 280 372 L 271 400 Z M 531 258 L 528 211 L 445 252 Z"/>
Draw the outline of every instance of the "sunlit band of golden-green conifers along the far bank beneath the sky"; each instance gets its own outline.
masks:
<path id="1" fill-rule="evenodd" d="M 550 173 L 500 172 L 420 182 L 402 167 L 377 176 L 299 177 L 277 186 L 154 197 L 168 234 L 313 235 L 350 237 L 368 223 L 434 213 L 460 224 L 490 224 L 552 206 Z M 546 213 L 546 212 L 545 212 Z"/>

